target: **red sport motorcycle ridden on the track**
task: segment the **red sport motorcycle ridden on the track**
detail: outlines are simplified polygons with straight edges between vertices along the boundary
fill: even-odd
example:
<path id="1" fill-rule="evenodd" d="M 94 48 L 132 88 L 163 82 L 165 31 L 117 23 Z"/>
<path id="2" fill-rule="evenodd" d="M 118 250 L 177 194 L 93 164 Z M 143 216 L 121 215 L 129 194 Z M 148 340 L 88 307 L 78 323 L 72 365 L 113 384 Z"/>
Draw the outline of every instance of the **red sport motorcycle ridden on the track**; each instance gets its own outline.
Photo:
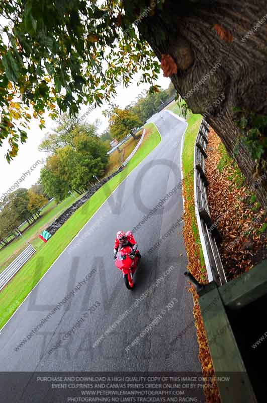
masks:
<path id="1" fill-rule="evenodd" d="M 123 280 L 128 290 L 133 289 L 133 276 L 141 257 L 139 250 L 136 250 L 134 255 L 131 255 L 131 251 L 132 248 L 130 246 L 122 247 L 118 251 L 115 260 L 115 266 L 122 271 Z"/>

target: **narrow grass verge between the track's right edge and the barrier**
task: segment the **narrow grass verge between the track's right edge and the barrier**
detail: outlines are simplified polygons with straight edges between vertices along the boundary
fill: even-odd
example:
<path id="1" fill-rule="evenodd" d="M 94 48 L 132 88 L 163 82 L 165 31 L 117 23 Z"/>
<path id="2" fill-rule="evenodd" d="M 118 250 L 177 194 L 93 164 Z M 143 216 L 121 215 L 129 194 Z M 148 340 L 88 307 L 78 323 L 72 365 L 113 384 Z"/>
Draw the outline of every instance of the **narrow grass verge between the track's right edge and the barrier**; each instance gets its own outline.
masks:
<path id="1" fill-rule="evenodd" d="M 194 200 L 194 147 L 196 137 L 198 135 L 199 126 L 202 120 L 201 115 L 195 115 L 189 113 L 188 115 L 188 127 L 185 133 L 185 143 L 182 154 L 183 172 L 185 178 L 185 192 L 186 198 L 190 204 L 190 214 L 192 217 L 192 231 L 195 236 L 196 243 L 200 245 L 200 261 L 201 265 L 205 265 L 205 260 L 201 248 L 199 230 L 195 214 L 195 200 Z M 192 191 L 193 190 L 193 191 Z"/>

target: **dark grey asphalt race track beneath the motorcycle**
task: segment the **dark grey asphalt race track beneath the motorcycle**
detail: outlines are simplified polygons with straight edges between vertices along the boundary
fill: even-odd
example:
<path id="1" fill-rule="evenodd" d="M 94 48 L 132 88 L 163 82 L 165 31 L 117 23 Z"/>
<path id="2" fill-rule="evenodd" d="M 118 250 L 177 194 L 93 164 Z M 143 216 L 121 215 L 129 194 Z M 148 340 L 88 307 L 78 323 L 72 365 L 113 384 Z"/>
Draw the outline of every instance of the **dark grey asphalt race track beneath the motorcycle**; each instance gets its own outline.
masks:
<path id="1" fill-rule="evenodd" d="M 149 252 L 182 216 L 180 186 L 164 203 L 163 209 L 140 224 L 134 234 L 142 259 L 133 291 L 126 289 L 112 258 L 116 232 L 134 228 L 181 181 L 180 149 L 186 124 L 166 111 L 156 114 L 151 120 L 160 131 L 161 143 L 85 225 L 2 330 L 2 371 L 201 370 L 193 324 L 193 300 L 185 288 L 187 259 L 182 237 L 183 222 L 159 247 Z M 101 217 L 104 219 L 98 225 Z M 94 233 L 86 236 L 94 224 Z M 53 242 L 53 238 L 49 242 Z M 157 287 L 136 304 L 131 314 L 105 335 L 109 326 L 170 266 L 173 268 L 164 280 L 157 283 Z M 71 303 L 65 303 L 16 351 L 15 348 L 40 320 L 94 268 L 91 278 L 75 292 Z M 166 305 L 172 300 L 174 305 L 168 310 Z M 96 310 L 89 313 L 80 327 L 73 329 L 69 337 L 61 341 L 60 347 L 49 354 L 64 333 L 72 329 L 95 303 L 100 303 Z M 165 313 L 162 314 L 163 308 Z M 159 314 L 162 318 L 140 337 L 142 330 Z M 187 330 L 182 337 L 177 338 L 185 328 Z M 94 343 L 102 334 L 101 343 L 94 348 Z M 138 336 L 138 344 L 129 352 L 125 351 L 125 347 Z M 3 391 L 6 385 L 2 383 L 1 387 Z M 41 397 L 36 401 L 42 401 Z"/>

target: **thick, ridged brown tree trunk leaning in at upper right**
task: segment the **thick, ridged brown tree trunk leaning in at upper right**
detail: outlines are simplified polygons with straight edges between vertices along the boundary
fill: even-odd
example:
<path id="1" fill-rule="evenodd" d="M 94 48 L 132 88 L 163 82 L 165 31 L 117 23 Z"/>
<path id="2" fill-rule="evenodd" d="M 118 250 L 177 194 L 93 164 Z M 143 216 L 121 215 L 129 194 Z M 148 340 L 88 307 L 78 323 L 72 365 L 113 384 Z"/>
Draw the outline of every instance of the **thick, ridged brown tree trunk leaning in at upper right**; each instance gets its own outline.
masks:
<path id="1" fill-rule="evenodd" d="M 138 7 L 139 2 L 125 0 L 126 12 L 127 5 L 130 10 L 130 4 Z M 170 77 L 173 85 L 194 113 L 206 113 L 207 121 L 234 156 L 242 134 L 235 123 L 235 108 L 267 115 L 265 0 L 166 0 L 162 11 L 141 19 L 138 30 L 159 60 L 162 54 L 174 59 L 177 74 Z M 217 100 L 219 105 L 213 107 Z M 264 169 L 255 173 L 250 155 L 240 144 L 234 158 L 267 210 Z M 266 155 L 264 149 L 262 160 L 267 160 Z"/>

